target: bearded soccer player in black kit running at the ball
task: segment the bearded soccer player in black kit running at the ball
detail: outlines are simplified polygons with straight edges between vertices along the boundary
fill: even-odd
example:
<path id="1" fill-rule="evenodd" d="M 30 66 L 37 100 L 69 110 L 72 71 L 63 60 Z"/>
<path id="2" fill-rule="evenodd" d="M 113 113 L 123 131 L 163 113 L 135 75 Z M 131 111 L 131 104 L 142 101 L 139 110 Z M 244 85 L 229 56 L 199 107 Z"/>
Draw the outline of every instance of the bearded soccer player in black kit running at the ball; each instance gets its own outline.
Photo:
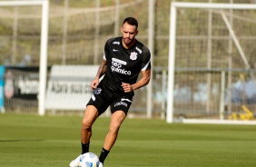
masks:
<path id="1" fill-rule="evenodd" d="M 103 61 L 91 83 L 94 93 L 86 105 L 81 130 L 82 154 L 89 152 L 90 138 L 94 121 L 110 106 L 111 122 L 99 156 L 99 167 L 113 147 L 119 128 L 133 102 L 133 91 L 150 82 L 151 53 L 135 36 L 138 34 L 138 22 L 133 17 L 123 20 L 123 36 L 110 38 L 104 46 Z M 138 75 L 142 77 L 137 81 Z M 103 76 L 104 75 L 104 76 Z M 103 80 L 100 82 L 100 78 Z M 70 162 L 77 167 L 79 155 Z"/>

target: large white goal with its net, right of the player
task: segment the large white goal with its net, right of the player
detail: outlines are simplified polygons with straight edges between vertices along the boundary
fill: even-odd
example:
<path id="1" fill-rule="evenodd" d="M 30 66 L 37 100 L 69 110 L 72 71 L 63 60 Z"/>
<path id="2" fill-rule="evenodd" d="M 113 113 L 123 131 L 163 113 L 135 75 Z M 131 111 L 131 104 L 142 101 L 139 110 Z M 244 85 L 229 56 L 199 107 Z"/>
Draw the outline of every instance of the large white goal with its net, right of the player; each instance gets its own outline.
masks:
<path id="1" fill-rule="evenodd" d="M 171 4 L 168 123 L 254 119 L 255 9 L 255 4 Z"/>

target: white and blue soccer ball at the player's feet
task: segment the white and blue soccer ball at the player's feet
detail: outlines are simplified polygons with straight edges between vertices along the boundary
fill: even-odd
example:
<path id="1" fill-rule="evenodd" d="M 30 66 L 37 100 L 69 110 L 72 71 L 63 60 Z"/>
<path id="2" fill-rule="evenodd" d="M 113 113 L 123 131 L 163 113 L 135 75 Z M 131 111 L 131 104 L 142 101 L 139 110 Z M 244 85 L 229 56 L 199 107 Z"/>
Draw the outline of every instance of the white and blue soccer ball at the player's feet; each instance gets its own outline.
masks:
<path id="1" fill-rule="evenodd" d="M 93 152 L 87 152 L 80 156 L 79 167 L 99 167 L 99 158 Z"/>

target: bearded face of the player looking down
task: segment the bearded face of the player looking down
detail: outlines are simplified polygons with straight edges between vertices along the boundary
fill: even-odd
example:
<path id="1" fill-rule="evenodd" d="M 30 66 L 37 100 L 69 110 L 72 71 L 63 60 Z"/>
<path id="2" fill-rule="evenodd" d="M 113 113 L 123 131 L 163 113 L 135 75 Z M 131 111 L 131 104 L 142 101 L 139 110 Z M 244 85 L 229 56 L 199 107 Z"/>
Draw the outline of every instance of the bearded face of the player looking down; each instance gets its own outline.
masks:
<path id="1" fill-rule="evenodd" d="M 123 34 L 123 43 L 126 45 L 130 45 L 133 43 L 135 36 L 138 34 L 135 25 L 129 25 L 127 23 L 123 24 L 121 28 L 121 32 Z"/>

